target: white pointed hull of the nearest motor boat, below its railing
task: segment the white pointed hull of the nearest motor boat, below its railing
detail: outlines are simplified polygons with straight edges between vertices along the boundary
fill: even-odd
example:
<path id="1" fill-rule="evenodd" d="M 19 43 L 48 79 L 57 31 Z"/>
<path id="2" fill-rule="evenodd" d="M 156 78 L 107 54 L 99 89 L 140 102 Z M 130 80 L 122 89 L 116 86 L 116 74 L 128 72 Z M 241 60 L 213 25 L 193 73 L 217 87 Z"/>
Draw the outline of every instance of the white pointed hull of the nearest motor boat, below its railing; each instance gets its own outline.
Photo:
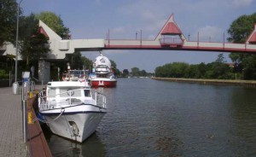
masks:
<path id="1" fill-rule="evenodd" d="M 91 106 L 90 108 L 96 108 Z M 60 111 L 60 110 L 59 110 Z M 79 112 L 59 112 L 44 111 L 44 119 L 48 121 L 50 131 L 60 137 L 65 137 L 76 142 L 84 142 L 87 137 L 96 131 L 96 127 L 106 112 L 90 111 Z M 61 115 L 61 116 L 60 116 Z"/>

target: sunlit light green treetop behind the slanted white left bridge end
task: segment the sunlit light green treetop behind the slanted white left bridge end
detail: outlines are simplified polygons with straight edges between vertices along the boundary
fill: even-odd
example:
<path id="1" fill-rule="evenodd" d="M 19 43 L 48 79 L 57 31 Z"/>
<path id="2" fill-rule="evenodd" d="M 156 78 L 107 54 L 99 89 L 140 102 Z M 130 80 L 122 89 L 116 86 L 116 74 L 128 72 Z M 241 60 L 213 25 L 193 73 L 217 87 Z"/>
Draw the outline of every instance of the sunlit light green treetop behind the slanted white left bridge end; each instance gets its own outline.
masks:
<path id="1" fill-rule="evenodd" d="M 64 26 L 61 16 L 55 15 L 55 13 L 44 11 L 39 15 L 36 15 L 38 20 L 42 20 L 47 26 L 55 31 L 61 38 L 70 38 L 69 28 Z"/>

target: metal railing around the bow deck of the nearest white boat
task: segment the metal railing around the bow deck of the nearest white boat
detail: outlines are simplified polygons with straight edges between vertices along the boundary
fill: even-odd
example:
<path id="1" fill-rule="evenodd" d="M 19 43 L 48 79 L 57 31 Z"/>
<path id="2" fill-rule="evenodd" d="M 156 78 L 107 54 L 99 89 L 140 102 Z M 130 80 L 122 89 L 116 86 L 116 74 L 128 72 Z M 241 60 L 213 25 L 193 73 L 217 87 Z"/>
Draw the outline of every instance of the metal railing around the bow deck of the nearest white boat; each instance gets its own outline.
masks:
<path id="1" fill-rule="evenodd" d="M 38 107 L 41 108 L 41 110 L 66 108 L 81 105 L 84 102 L 88 102 L 100 108 L 106 108 L 106 96 L 96 90 L 78 89 L 67 90 L 60 94 L 50 96 L 46 96 L 45 94 L 45 91 L 42 90 L 38 96 Z M 82 94 L 84 94 L 84 96 L 81 96 Z"/>

